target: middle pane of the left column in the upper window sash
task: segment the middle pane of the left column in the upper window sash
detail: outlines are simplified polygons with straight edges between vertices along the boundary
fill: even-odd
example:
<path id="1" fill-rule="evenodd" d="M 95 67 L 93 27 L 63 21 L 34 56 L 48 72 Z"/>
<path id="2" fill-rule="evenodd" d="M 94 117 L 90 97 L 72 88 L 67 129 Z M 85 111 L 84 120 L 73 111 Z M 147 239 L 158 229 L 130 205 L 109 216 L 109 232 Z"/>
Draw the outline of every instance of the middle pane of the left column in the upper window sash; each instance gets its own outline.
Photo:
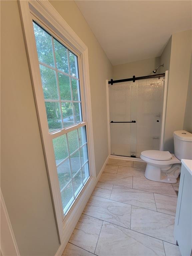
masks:
<path id="1" fill-rule="evenodd" d="M 41 82 L 45 99 L 59 99 L 57 91 L 56 72 L 53 69 L 39 65 L 41 72 Z"/>

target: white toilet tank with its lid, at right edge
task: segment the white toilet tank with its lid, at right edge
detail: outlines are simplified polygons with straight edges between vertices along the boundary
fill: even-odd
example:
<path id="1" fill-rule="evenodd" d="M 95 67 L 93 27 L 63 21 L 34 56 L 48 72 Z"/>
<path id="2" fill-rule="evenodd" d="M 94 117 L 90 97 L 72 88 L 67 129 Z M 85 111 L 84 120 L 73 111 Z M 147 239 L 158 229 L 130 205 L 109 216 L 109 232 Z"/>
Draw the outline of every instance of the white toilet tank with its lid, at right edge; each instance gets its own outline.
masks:
<path id="1" fill-rule="evenodd" d="M 181 159 L 192 159 L 192 133 L 181 130 L 173 132 L 175 156 Z"/>

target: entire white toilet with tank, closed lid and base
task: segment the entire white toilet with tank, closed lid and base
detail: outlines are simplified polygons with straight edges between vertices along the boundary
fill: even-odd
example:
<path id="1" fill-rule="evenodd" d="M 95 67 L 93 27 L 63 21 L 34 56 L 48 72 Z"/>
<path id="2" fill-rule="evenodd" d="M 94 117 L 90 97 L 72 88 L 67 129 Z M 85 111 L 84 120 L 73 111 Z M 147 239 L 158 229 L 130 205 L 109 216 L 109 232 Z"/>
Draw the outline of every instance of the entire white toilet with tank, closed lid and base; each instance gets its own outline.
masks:
<path id="1" fill-rule="evenodd" d="M 146 163 L 145 177 L 149 180 L 176 183 L 181 172 L 181 159 L 192 159 L 192 133 L 181 130 L 173 133 L 175 154 L 169 151 L 145 150 L 141 159 Z"/>

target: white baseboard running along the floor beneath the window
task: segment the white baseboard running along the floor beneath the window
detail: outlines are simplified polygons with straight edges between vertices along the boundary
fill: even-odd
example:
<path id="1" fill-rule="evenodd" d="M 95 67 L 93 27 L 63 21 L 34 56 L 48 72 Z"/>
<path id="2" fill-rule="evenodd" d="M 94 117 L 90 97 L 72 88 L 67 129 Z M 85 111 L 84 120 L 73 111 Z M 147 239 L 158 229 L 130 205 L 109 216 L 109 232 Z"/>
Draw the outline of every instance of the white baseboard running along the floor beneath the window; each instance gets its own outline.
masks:
<path id="1" fill-rule="evenodd" d="M 74 206 L 72 207 L 71 211 L 69 212 L 69 216 L 67 216 L 65 223 L 64 223 L 64 229 L 63 229 L 63 237 L 64 240 L 61 241 L 61 245 L 59 246 L 55 256 L 61 256 L 72 233 L 73 230 L 75 228 L 75 226 L 77 225 L 77 222 L 105 168 L 105 165 L 107 164 L 107 161 L 109 159 L 109 156 L 107 157 L 107 159 L 105 160 L 99 174 L 97 175 L 97 177 L 91 177 L 90 180 L 88 181 L 88 183 L 86 184 L 85 189 L 82 191 L 82 193 L 79 195 L 76 203 L 74 204 Z"/>

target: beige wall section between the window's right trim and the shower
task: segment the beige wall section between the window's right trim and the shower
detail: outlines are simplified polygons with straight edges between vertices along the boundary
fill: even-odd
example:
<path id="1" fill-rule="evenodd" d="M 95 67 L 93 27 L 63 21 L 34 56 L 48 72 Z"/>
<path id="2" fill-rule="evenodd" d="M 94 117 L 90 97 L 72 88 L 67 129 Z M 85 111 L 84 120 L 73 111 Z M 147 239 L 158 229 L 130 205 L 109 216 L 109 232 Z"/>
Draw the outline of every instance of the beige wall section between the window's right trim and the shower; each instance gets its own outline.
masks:
<path id="1" fill-rule="evenodd" d="M 50 1 L 58 13 L 88 47 L 91 105 L 97 174 L 108 155 L 105 79 L 112 77 L 112 65 L 74 1 Z"/>

